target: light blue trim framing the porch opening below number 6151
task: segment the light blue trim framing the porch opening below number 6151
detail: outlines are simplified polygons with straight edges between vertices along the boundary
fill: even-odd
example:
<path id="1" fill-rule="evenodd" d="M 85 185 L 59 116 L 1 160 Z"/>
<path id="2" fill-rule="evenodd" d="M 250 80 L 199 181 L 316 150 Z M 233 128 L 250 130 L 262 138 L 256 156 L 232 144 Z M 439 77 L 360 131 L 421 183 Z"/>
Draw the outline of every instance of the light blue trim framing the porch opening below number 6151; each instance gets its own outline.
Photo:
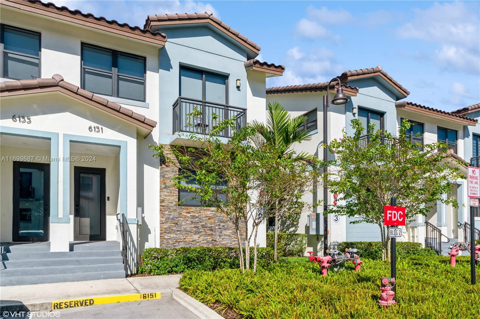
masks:
<path id="1" fill-rule="evenodd" d="M 63 156 L 70 156 L 70 143 L 84 143 L 93 145 L 120 147 L 120 215 L 127 216 L 127 141 L 109 138 L 63 135 Z M 70 216 L 70 162 L 63 162 L 63 216 Z M 69 217 L 70 219 L 70 217 Z M 130 223 L 130 221 L 127 222 Z M 133 223 L 133 220 L 130 219 Z M 136 223 L 136 222 L 134 222 Z"/>

